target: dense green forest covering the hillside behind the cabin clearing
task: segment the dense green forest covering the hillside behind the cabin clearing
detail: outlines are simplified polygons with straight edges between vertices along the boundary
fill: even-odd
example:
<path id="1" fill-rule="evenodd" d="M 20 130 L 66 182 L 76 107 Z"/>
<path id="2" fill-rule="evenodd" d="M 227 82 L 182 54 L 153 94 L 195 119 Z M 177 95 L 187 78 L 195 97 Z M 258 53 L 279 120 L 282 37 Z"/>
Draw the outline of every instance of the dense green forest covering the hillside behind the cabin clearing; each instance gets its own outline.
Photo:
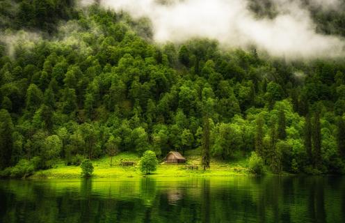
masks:
<path id="1" fill-rule="evenodd" d="M 344 10 L 311 11 L 320 33 L 345 36 Z M 196 148 L 229 162 L 255 151 L 274 173 L 344 173 L 344 58 L 287 61 L 204 38 L 160 45 L 149 20 L 72 0 L 1 1 L 0 31 L 2 176 Z"/>

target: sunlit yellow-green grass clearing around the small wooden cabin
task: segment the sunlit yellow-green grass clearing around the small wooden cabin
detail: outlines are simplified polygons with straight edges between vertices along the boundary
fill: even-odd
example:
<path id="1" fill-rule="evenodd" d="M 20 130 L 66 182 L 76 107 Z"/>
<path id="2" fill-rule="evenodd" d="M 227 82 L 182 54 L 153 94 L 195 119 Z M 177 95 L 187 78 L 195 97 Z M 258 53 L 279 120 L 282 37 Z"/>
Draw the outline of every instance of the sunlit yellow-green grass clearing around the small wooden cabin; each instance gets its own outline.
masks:
<path id="1" fill-rule="evenodd" d="M 161 164 L 158 165 L 157 171 L 150 176 L 157 177 L 188 177 L 188 176 L 243 176 L 250 174 L 247 168 L 247 160 L 236 160 L 232 162 L 221 162 L 211 160 L 211 168 L 204 171 L 200 167 L 199 151 L 188 151 L 186 158 L 188 164 L 198 165 L 198 170 L 186 169 L 185 164 Z M 94 178 L 118 178 L 118 177 L 141 177 L 141 171 L 138 167 L 140 157 L 134 153 L 120 153 L 113 157 L 113 167 L 110 167 L 110 158 L 104 157 L 99 160 L 93 160 L 95 170 Z M 134 167 L 122 167 L 120 162 L 134 161 Z M 80 178 L 80 167 L 65 166 L 58 164 L 54 169 L 47 169 L 36 172 L 31 178 Z"/>

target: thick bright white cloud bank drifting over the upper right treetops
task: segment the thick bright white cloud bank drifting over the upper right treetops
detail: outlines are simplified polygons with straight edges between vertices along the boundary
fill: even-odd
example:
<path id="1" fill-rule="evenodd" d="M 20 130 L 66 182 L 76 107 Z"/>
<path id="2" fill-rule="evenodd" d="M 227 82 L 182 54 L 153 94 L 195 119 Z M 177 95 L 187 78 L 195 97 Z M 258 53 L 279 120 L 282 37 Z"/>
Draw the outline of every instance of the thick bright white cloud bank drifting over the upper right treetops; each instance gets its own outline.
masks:
<path id="1" fill-rule="evenodd" d="M 154 40 L 159 43 L 212 38 L 227 47 L 255 45 L 271 56 L 284 56 L 287 59 L 344 56 L 344 39 L 316 33 L 310 12 L 300 0 L 275 0 L 278 15 L 273 19 L 257 18 L 248 9 L 248 0 L 99 2 L 106 8 L 125 10 L 135 18 L 150 18 Z M 336 8 L 340 1 L 310 0 L 310 3 L 322 8 Z"/>

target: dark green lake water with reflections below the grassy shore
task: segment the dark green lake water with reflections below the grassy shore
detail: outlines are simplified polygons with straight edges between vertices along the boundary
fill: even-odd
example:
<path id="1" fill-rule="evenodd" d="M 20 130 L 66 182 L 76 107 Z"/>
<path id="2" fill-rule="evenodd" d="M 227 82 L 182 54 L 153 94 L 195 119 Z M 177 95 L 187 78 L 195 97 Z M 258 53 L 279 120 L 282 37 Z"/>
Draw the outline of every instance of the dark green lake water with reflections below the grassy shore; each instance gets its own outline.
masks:
<path id="1" fill-rule="evenodd" d="M 2 180 L 0 222 L 345 222 L 345 178 Z"/>

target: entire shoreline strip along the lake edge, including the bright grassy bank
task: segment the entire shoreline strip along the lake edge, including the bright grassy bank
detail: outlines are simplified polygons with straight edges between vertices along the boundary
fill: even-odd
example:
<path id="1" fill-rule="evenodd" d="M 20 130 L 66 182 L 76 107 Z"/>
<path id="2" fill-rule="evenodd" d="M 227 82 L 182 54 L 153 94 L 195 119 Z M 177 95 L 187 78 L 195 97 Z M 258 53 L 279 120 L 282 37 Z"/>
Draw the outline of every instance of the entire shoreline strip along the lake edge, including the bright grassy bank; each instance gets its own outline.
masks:
<path id="1" fill-rule="evenodd" d="M 248 160 L 232 160 L 220 161 L 211 160 L 211 167 L 205 171 L 200 167 L 199 157 L 189 156 L 186 164 L 165 164 L 161 162 L 157 166 L 157 170 L 152 174 L 145 175 L 141 173 L 138 163 L 140 157 L 133 153 L 122 153 L 113 157 L 113 165 L 110 166 L 109 157 L 102 157 L 98 160 L 93 160 L 93 175 L 91 178 L 207 178 L 207 177 L 232 177 L 232 176 L 260 176 L 253 174 L 248 168 Z M 122 166 L 123 161 L 132 161 L 134 166 Z M 198 166 L 196 169 L 188 169 L 190 167 Z M 283 171 L 280 174 L 273 174 L 268 167 L 264 167 L 264 174 L 261 176 L 332 176 L 333 174 L 291 174 Z M 342 174 L 335 174 L 335 176 L 344 176 Z M 35 171 L 31 176 L 26 176 L 22 179 L 40 180 L 40 179 L 81 179 L 80 166 L 67 166 L 61 160 L 54 168 Z M 6 179 L 6 178 L 4 178 Z M 15 179 L 15 178 L 8 178 Z M 18 179 L 18 178 L 17 178 Z M 19 178 L 20 179 L 20 178 Z"/>

